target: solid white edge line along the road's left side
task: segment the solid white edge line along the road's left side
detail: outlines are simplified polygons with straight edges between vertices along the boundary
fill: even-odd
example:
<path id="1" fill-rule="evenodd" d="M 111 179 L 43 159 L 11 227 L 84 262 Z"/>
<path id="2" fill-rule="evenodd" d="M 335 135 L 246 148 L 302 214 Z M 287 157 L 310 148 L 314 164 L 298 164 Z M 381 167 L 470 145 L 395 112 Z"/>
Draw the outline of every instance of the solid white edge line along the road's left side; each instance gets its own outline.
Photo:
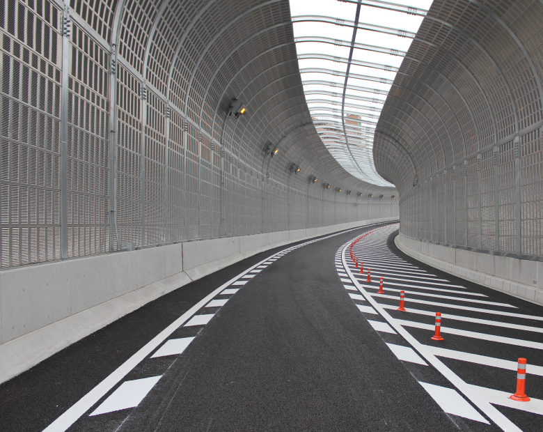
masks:
<path id="1" fill-rule="evenodd" d="M 366 226 L 372 226 L 372 225 L 365 225 L 365 226 L 356 226 L 356 228 L 346 229 L 345 231 L 338 231 L 337 233 L 333 233 L 329 236 L 325 236 L 322 238 L 318 238 L 315 240 L 310 240 L 310 242 L 318 241 L 318 240 L 325 240 L 326 238 L 331 238 L 334 236 L 339 236 L 340 234 L 349 233 L 350 231 L 354 231 L 356 229 L 361 229 Z M 306 242 L 309 243 L 309 242 Z M 306 245 L 306 243 L 303 243 L 302 245 Z M 43 429 L 42 432 L 65 432 L 66 429 L 68 429 L 72 424 L 77 422 L 79 417 L 81 415 L 84 415 L 85 412 L 90 410 L 97 401 L 100 401 L 102 397 L 109 392 L 117 383 L 119 383 L 120 380 L 125 378 L 127 376 L 127 373 L 129 371 L 132 371 L 134 367 L 136 367 L 142 360 L 145 359 L 150 353 L 152 353 L 153 350 L 157 348 L 162 342 L 166 340 L 168 336 L 170 336 L 175 330 L 177 330 L 185 321 L 188 321 L 191 316 L 196 314 L 196 312 L 205 306 L 212 298 L 214 298 L 216 295 L 219 295 L 223 289 L 225 289 L 227 286 L 233 284 L 237 279 L 240 279 L 242 276 L 246 275 L 249 271 L 253 270 L 253 268 L 256 268 L 258 265 L 262 265 L 265 261 L 268 261 L 272 259 L 275 256 L 278 256 L 278 254 L 281 254 L 282 252 L 285 252 L 286 250 L 290 251 L 291 248 L 283 249 L 283 251 L 276 252 L 273 255 L 268 256 L 266 259 L 263 259 L 259 263 L 256 263 L 255 265 L 251 266 L 250 268 L 247 268 L 243 272 L 239 273 L 239 275 L 233 277 L 225 284 L 222 284 L 219 288 L 217 288 L 215 291 L 207 295 L 205 298 L 200 300 L 198 303 L 196 303 L 191 309 L 186 311 L 182 316 L 180 316 L 178 319 L 173 321 L 168 327 L 166 327 L 162 332 L 157 334 L 151 341 L 149 341 L 143 348 L 141 348 L 137 353 L 132 355 L 126 362 L 120 365 L 115 371 L 111 372 L 109 376 L 104 378 L 101 383 L 96 385 L 90 392 L 88 392 L 85 396 L 83 396 L 79 401 L 74 403 L 68 410 L 65 410 L 63 414 L 61 414 L 58 418 L 52 422 L 52 424 L 49 424 L 45 429 Z M 343 255 L 343 254 L 342 254 Z M 343 259 L 343 257 L 342 257 Z"/>

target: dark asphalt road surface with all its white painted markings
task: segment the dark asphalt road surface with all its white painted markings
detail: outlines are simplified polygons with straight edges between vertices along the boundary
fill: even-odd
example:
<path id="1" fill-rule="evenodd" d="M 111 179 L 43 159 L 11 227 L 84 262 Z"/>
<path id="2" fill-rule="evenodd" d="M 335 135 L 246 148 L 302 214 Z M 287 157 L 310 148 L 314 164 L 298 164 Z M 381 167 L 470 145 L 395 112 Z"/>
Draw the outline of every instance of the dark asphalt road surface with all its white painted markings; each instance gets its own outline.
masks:
<path id="1" fill-rule="evenodd" d="M 404 256 L 397 229 L 263 252 L 150 302 L 0 385 L 0 431 L 543 431 L 543 308 Z M 370 230 L 361 275 L 349 245 Z M 508 398 L 518 357 L 530 402 Z"/>

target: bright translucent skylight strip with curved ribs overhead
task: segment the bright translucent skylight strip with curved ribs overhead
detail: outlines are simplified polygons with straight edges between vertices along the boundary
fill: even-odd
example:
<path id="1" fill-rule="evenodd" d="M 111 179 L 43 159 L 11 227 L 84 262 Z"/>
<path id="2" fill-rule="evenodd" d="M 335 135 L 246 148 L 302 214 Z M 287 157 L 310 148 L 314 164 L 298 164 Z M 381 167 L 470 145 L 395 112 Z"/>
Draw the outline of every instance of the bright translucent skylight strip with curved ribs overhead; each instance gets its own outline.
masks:
<path id="1" fill-rule="evenodd" d="M 392 186 L 373 161 L 375 127 L 396 72 L 432 0 L 290 0 L 294 40 L 313 123 L 349 173 Z"/>

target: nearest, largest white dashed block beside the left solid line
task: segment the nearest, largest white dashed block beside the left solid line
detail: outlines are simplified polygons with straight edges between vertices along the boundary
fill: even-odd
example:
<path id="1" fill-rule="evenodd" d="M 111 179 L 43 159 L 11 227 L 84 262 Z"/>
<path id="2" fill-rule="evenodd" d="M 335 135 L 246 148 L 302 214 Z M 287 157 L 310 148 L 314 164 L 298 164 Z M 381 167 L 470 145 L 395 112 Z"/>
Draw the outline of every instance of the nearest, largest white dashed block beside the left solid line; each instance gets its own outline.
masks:
<path id="1" fill-rule="evenodd" d="M 125 410 L 138 406 L 161 377 L 162 375 L 141 378 L 141 380 L 125 381 L 90 415 L 105 414 L 106 412 Z"/>

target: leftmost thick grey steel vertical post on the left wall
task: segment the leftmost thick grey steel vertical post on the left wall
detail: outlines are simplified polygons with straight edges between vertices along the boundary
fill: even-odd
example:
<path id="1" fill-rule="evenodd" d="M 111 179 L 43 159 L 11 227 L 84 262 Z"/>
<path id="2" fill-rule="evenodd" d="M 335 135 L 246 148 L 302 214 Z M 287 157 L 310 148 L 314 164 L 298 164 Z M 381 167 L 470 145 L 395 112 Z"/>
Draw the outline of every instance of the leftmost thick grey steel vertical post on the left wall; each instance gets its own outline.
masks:
<path id="1" fill-rule="evenodd" d="M 68 258 L 68 73 L 70 70 L 70 9 L 65 1 L 61 78 L 61 259 Z"/>

